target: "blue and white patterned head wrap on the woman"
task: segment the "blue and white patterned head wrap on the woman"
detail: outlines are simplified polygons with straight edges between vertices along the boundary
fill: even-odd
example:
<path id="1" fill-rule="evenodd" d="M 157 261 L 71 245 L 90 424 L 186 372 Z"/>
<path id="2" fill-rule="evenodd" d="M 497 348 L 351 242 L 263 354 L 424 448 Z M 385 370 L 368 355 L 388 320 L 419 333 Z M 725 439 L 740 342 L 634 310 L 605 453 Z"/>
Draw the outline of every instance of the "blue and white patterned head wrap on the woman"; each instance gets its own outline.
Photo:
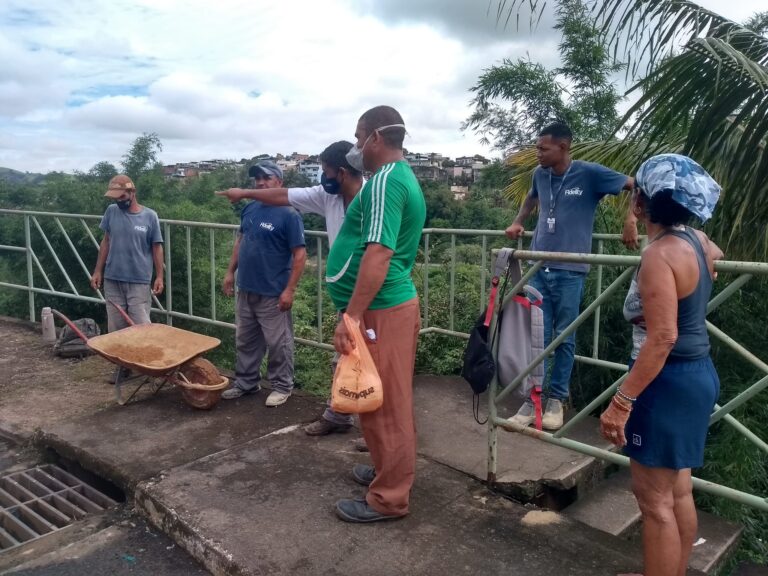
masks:
<path id="1" fill-rule="evenodd" d="M 696 162 L 680 154 L 659 154 L 640 166 L 637 186 L 652 198 L 662 191 L 672 191 L 672 200 L 687 208 L 702 222 L 712 217 L 720 185 Z"/>

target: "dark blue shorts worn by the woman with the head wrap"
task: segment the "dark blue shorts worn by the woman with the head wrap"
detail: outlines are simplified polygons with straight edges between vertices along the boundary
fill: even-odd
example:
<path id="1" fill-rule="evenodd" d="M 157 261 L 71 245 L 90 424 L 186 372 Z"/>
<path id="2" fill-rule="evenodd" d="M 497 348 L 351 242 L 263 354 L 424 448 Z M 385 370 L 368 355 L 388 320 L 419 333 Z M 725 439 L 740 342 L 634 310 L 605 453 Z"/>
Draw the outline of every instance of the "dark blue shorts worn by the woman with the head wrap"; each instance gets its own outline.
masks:
<path id="1" fill-rule="evenodd" d="M 699 468 L 720 380 L 709 357 L 667 360 L 638 396 L 625 428 L 624 453 L 654 468 Z"/>

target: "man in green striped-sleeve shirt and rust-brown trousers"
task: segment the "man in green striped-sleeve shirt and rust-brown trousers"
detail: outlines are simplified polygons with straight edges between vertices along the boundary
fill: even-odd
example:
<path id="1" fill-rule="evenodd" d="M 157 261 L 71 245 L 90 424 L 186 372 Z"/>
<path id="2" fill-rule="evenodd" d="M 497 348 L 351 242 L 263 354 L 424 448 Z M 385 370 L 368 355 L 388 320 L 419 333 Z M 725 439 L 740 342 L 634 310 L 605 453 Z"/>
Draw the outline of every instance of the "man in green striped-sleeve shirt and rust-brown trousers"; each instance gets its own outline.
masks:
<path id="1" fill-rule="evenodd" d="M 390 106 L 360 117 L 349 164 L 373 172 L 349 204 L 328 255 L 326 282 L 333 303 L 360 322 L 384 386 L 378 410 L 360 414 L 373 466 L 357 464 L 352 477 L 369 486 L 365 499 L 343 499 L 336 513 L 347 522 L 376 522 L 408 514 L 416 472 L 413 368 L 420 328 L 411 280 L 426 218 L 424 194 L 403 159 L 405 125 Z M 343 322 L 334 346 L 348 354 L 354 342 Z"/>

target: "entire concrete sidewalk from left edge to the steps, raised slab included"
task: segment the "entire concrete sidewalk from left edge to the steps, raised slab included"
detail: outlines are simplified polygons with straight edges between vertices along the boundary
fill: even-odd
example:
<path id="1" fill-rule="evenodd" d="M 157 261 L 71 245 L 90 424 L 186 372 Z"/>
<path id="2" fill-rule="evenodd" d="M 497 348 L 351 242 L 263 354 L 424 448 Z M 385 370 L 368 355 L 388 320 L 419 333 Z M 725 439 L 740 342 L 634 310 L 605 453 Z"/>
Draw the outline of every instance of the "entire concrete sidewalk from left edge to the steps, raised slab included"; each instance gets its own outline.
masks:
<path id="1" fill-rule="evenodd" d="M 640 567 L 636 543 L 487 490 L 475 477 L 484 477 L 484 428 L 455 379 L 417 379 L 411 514 L 360 526 L 333 512 L 338 498 L 363 493 L 349 476 L 367 461 L 352 448 L 357 435 L 300 429 L 321 399 L 294 395 L 266 408 L 262 392 L 201 412 L 169 389 L 122 407 L 104 383 L 107 362 L 53 358 L 21 323 L 0 320 L 0 341 L 0 433 L 119 486 L 214 574 L 596 576 Z M 530 442 L 505 434 L 501 456 L 503 477 L 534 491 L 568 490 L 565 470 L 594 465 Z"/>

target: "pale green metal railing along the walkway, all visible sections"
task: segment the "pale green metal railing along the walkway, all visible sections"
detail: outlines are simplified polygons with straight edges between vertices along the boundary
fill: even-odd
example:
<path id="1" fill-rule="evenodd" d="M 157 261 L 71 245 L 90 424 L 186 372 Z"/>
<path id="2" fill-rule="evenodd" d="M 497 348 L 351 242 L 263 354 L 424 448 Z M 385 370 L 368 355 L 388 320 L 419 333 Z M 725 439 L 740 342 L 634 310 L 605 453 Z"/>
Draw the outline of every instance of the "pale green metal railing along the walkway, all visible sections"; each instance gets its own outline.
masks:
<path id="1" fill-rule="evenodd" d="M 21 219 L 23 222 L 24 241 L 23 245 L 0 244 L 0 253 L 6 252 L 23 255 L 26 260 L 26 282 L 22 284 L 19 283 L 18 280 L 16 282 L 11 282 L 0 278 L 0 287 L 27 292 L 30 320 L 35 321 L 36 319 L 36 297 L 38 296 L 63 297 L 93 304 L 104 303 L 103 296 L 100 292 L 97 292 L 97 297 L 94 297 L 78 291 L 77 279 L 73 275 L 70 275 L 70 271 L 64 266 L 49 239 L 50 234 L 57 234 L 60 236 L 60 239 L 63 240 L 63 245 L 66 247 L 67 251 L 72 254 L 75 268 L 80 272 L 79 283 L 82 286 L 83 281 L 85 281 L 84 285 L 87 286 L 87 281 L 90 279 L 90 269 L 85 263 L 85 255 L 81 254 L 81 250 L 78 250 L 78 245 L 84 245 L 85 249 L 90 252 L 86 259 L 95 262 L 99 244 L 94 236 L 92 227 L 94 227 L 101 219 L 101 216 L 0 209 L 0 226 L 5 224 L 8 221 L 7 219 Z M 41 225 L 41 221 L 44 225 Z M 63 222 L 67 222 L 70 225 L 69 231 Z M 231 253 L 237 226 L 179 220 L 161 220 L 161 224 L 163 226 L 165 240 L 166 290 L 163 296 L 163 303 L 157 298 L 154 298 L 152 307 L 153 314 L 164 318 L 165 322 L 168 324 L 172 324 L 174 319 L 182 319 L 234 330 L 234 312 L 230 310 L 222 311 L 222 308 L 226 307 L 222 302 L 231 302 L 231 299 L 222 301 L 224 296 L 220 293 L 218 286 L 221 277 L 223 276 L 224 267 L 222 265 L 225 262 L 224 259 L 228 259 L 229 254 Z M 49 228 L 48 233 L 46 233 L 46 227 Z M 73 227 L 79 232 L 79 236 L 74 239 Z M 327 296 L 325 296 L 324 289 L 323 255 L 327 253 L 327 234 L 325 232 L 307 231 L 306 236 L 310 239 L 308 242 L 308 249 L 312 249 L 314 252 L 308 260 L 307 271 L 305 274 L 314 273 L 316 275 L 317 290 L 315 295 L 315 315 L 317 331 L 314 338 L 296 338 L 296 341 L 307 346 L 332 350 L 333 347 L 330 342 L 326 342 L 324 339 L 324 336 L 327 336 L 330 340 L 332 334 L 324 334 L 323 331 L 323 318 L 331 313 L 325 309 L 328 299 Z M 530 235 L 527 237 L 530 237 Z M 466 318 L 467 314 L 470 313 L 469 311 L 476 310 L 477 314 L 480 314 L 485 309 L 487 305 L 488 280 L 491 275 L 492 249 L 494 248 L 494 244 L 498 244 L 499 246 L 504 244 L 502 240 L 503 238 L 504 233 L 499 230 L 438 228 L 424 230 L 423 243 L 420 248 L 419 259 L 414 271 L 417 285 L 420 284 L 419 292 L 422 305 L 422 329 L 420 334 L 436 334 L 461 339 L 469 337 L 467 332 L 457 329 L 457 314 L 460 312 Z M 624 288 L 624 284 L 631 276 L 632 270 L 639 263 L 639 256 L 604 254 L 605 243 L 618 242 L 618 240 L 620 240 L 619 235 L 595 234 L 594 239 L 597 246 L 596 254 L 553 254 L 524 251 L 522 250 L 522 240 L 518 242 L 518 250 L 515 253 L 515 257 L 533 262 L 533 265 L 527 270 L 518 285 L 508 291 L 508 294 L 514 295 L 519 288 L 536 273 L 541 266 L 541 262 L 544 260 L 561 260 L 584 262 L 594 265 L 594 298 L 571 326 L 555 338 L 543 353 L 534 359 L 533 363 L 523 373 L 519 374 L 513 382 L 505 386 L 503 390 L 498 390 L 498 382 L 494 381 L 491 386 L 488 404 L 490 416 L 488 420 L 488 480 L 490 482 L 495 480 L 496 475 L 499 428 L 514 430 L 534 436 L 545 442 L 557 444 L 564 448 L 600 458 L 608 462 L 623 466 L 628 465 L 628 459 L 625 456 L 597 446 L 578 442 L 567 437 L 578 422 L 589 416 L 610 398 L 616 387 L 623 381 L 627 371 L 627 365 L 624 363 L 599 358 L 598 343 L 600 340 L 601 307 L 609 298 L 615 296 L 619 290 Z M 173 257 L 174 246 L 179 241 L 182 242 L 183 247 L 181 250 L 181 263 L 175 261 Z M 466 294 L 459 295 L 456 293 L 456 275 L 457 271 L 460 269 L 457 248 L 460 245 L 476 248 L 478 247 L 478 244 L 479 254 L 473 254 L 475 260 L 471 261 L 473 266 L 476 267 L 479 265 L 479 274 L 477 275 L 476 284 L 474 284 L 476 297 L 473 304 L 472 297 L 469 297 Z M 59 243 L 59 245 L 62 244 Z M 50 263 L 50 266 L 53 267 L 55 273 L 58 274 L 58 278 L 52 280 L 51 276 L 53 273 L 50 275 L 46 273 L 43 262 L 38 255 L 38 250 L 41 246 L 46 250 L 48 262 Z M 208 252 L 206 257 L 208 268 L 207 278 L 202 283 L 199 281 L 200 274 L 195 274 L 195 271 L 193 270 L 193 246 L 198 257 L 200 256 L 200 253 L 205 251 Z M 439 258 L 439 261 L 435 262 L 433 260 L 434 258 Z M 175 271 L 177 266 L 181 266 L 183 273 Z M 604 288 L 604 269 L 606 267 L 618 267 L 623 269 L 623 271 L 615 280 Z M 768 264 L 753 262 L 718 262 L 716 264 L 716 269 L 721 273 L 735 274 L 736 277 L 712 299 L 708 307 L 709 312 L 715 310 L 729 297 L 737 293 L 751 278 L 753 278 L 753 276 L 768 274 Z M 0 271 L 1 270 L 2 269 L 0 269 Z M 477 272 L 476 268 L 472 268 L 472 270 L 473 273 Z M 441 278 L 441 276 L 443 278 Z M 45 287 L 35 283 L 36 277 L 42 279 L 42 283 Z M 198 281 L 195 281 L 195 277 L 197 277 Z M 431 296 L 433 295 L 430 289 L 430 282 L 441 279 L 446 281 L 448 286 L 448 299 L 445 303 L 447 310 L 443 309 L 443 307 L 437 303 L 433 306 L 430 301 Z M 174 301 L 174 281 L 181 282 L 181 286 L 185 288 L 185 290 L 178 291 L 182 293 L 186 292 L 185 295 L 182 295 L 181 302 Z M 721 282 L 722 280 L 719 281 L 719 283 Z M 207 286 L 203 288 L 203 284 Z M 55 287 L 55 285 L 57 287 Z M 88 290 L 90 290 L 90 288 L 88 288 Z M 198 301 L 198 304 L 196 305 L 193 295 L 196 291 L 202 292 L 204 290 L 208 290 L 209 292 L 208 301 L 203 302 L 202 304 Z M 458 305 L 457 299 L 459 300 Z M 501 306 L 497 306 L 496 310 L 498 311 L 501 308 Z M 447 318 L 444 323 L 439 321 L 433 322 L 436 315 L 441 313 L 445 315 L 446 312 Z M 472 312 L 472 314 L 474 314 L 474 312 Z M 569 334 L 573 333 L 580 325 L 587 322 L 590 316 L 593 320 L 591 354 L 577 355 L 576 361 L 598 366 L 607 370 L 618 371 L 622 373 L 622 376 L 599 394 L 597 398 L 591 401 L 588 406 L 569 420 L 569 422 L 557 432 L 548 433 L 537 431 L 532 428 L 521 429 L 510 425 L 507 420 L 500 418 L 497 409 L 500 402 L 503 401 L 511 391 L 533 371 L 536 364 L 542 362 L 547 355 L 554 351 L 560 342 L 568 337 Z M 462 325 L 467 329 L 469 328 L 467 322 L 463 322 Z M 711 336 L 715 340 L 720 341 L 723 345 L 733 350 L 743 358 L 745 362 L 754 366 L 765 375 L 747 390 L 727 402 L 724 406 L 716 406 L 715 412 L 711 417 L 710 425 L 723 420 L 728 425 L 737 429 L 745 438 L 749 439 L 750 442 L 757 446 L 758 449 L 768 453 L 768 444 L 748 430 L 731 415 L 733 410 L 742 406 L 749 399 L 768 387 L 768 363 L 760 360 L 745 347 L 730 338 L 717 326 L 710 322 L 708 322 L 707 326 Z M 768 510 L 768 499 L 762 496 L 748 494 L 697 478 L 694 479 L 694 486 L 704 492 L 729 498 L 762 510 Z"/>

